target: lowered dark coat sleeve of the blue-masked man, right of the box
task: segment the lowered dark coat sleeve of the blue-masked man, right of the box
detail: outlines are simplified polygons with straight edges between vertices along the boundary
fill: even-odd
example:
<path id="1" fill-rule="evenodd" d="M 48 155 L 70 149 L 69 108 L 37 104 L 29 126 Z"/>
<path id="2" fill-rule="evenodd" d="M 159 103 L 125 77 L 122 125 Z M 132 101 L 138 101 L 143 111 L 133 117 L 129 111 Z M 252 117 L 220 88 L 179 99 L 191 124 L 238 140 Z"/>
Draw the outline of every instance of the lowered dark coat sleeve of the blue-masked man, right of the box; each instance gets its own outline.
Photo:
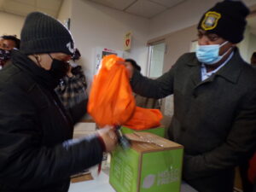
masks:
<path id="1" fill-rule="evenodd" d="M 256 89 L 244 96 L 225 142 L 218 148 L 200 155 L 184 155 L 183 177 L 207 177 L 237 166 L 256 149 Z"/>

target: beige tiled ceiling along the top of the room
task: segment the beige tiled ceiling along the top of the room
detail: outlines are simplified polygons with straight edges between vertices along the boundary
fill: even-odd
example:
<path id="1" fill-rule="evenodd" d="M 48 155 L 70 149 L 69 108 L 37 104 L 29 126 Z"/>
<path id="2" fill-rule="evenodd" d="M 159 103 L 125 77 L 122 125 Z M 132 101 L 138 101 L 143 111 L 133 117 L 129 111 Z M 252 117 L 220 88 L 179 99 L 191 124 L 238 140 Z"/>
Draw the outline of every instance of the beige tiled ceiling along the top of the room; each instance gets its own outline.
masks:
<path id="1" fill-rule="evenodd" d="M 0 0 L 0 11 L 26 16 L 32 11 L 41 11 L 57 17 L 63 0 Z M 183 3 L 186 0 L 88 0 L 112 9 L 118 9 L 144 18 L 155 15 Z"/>

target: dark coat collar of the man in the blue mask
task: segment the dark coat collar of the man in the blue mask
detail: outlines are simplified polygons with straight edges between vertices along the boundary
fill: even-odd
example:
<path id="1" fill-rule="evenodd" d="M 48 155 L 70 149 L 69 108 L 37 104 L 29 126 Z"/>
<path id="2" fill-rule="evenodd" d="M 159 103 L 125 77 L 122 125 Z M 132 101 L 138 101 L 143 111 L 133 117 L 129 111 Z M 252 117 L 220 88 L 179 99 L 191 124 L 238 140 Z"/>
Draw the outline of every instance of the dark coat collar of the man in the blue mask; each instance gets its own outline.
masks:
<path id="1" fill-rule="evenodd" d="M 217 73 L 213 74 L 209 79 L 206 79 L 203 82 L 209 82 L 214 79 L 215 76 L 221 76 L 224 79 L 227 79 L 233 84 L 236 84 L 239 79 L 241 73 L 241 64 L 246 64 L 245 61 L 242 60 L 241 55 L 239 53 L 239 49 L 234 49 L 234 55 L 228 61 L 224 67 L 220 68 Z M 192 61 L 187 63 L 189 67 L 191 67 L 191 79 L 195 84 L 203 83 L 201 82 L 201 62 L 193 58 Z"/>

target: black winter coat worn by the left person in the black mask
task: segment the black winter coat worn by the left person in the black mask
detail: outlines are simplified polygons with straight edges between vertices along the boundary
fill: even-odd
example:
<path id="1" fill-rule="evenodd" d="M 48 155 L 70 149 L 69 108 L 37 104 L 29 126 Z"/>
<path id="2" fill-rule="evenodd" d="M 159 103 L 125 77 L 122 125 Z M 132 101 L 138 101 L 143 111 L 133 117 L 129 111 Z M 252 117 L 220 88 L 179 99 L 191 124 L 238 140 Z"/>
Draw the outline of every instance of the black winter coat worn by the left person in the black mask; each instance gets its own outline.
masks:
<path id="1" fill-rule="evenodd" d="M 0 71 L 1 192 L 66 192 L 72 174 L 102 160 L 96 136 L 70 140 L 78 118 L 65 111 L 47 74 L 16 50 Z"/>

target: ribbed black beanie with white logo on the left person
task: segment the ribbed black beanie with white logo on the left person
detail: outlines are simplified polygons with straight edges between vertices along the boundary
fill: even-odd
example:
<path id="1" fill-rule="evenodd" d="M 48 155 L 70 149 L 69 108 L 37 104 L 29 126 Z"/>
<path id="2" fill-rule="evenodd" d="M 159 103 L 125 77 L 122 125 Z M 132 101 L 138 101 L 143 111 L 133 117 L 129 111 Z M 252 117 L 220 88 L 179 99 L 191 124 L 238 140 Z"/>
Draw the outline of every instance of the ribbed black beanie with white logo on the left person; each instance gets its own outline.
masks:
<path id="1" fill-rule="evenodd" d="M 26 16 L 20 34 L 20 51 L 26 55 L 61 52 L 73 55 L 71 33 L 60 21 L 40 12 Z"/>

